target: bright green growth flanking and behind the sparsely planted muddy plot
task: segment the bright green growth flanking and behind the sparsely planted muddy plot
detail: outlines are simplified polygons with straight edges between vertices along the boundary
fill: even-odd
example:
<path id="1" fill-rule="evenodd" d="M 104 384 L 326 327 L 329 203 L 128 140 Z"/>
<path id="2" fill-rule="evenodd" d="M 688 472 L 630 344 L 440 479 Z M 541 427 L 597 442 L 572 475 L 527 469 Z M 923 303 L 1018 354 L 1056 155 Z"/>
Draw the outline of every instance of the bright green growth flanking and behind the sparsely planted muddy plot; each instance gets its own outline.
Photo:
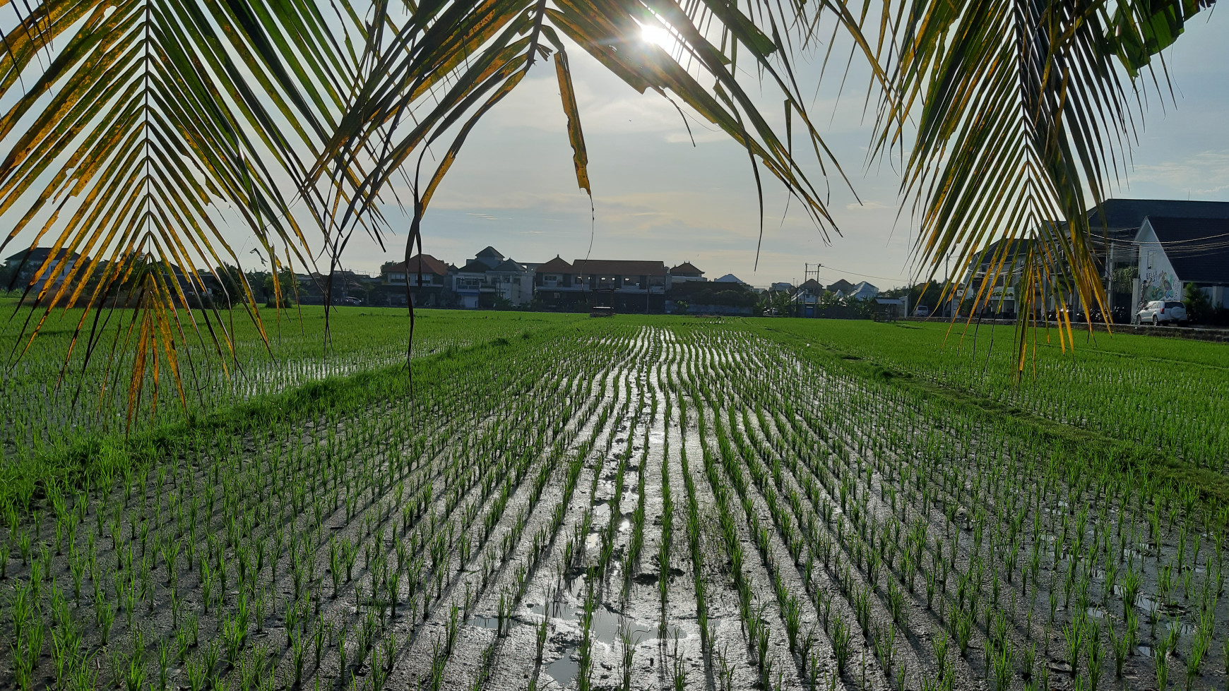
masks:
<path id="1" fill-rule="evenodd" d="M 332 339 L 327 342 L 322 308 L 304 307 L 280 315 L 268 311 L 269 349 L 251 322 L 236 314 L 232 333 L 240 367 L 229 377 L 216 369 L 208 377 L 198 374 L 195 380 L 209 385 L 193 389 L 187 406 L 163 385 L 157 407 L 145 409 L 129 427 L 119 412 L 125 403 L 123 387 L 113 384 L 96 398 L 88 394 L 98 392 L 85 387 L 86 395 L 74 404 L 75 388 L 54 385 L 76 318 L 73 311 L 57 317 L 34 349 L 7 371 L 7 410 L 0 423 L 0 484 L 5 487 L 0 502 L 37 496 L 48 482 L 77 485 L 98 473 L 114 473 L 171 439 L 190 438 L 194 430 L 232 430 L 253 421 L 280 420 L 278 415 L 311 415 L 320 405 L 332 405 L 329 401 L 358 400 L 347 398 L 360 395 L 355 392 L 365 392 L 360 398 L 379 398 L 371 387 L 392 385 L 406 373 L 409 323 L 403 309 L 339 308 L 331 319 Z M 825 367 L 952 409 L 976 410 L 988 420 L 1009 420 L 1045 436 L 1066 453 L 1097 449 L 1122 469 L 1149 466 L 1176 484 L 1195 484 L 1209 497 L 1229 502 L 1223 465 L 1229 459 L 1229 436 L 1211 414 L 1229 403 L 1229 368 L 1224 365 L 1229 351 L 1223 345 L 1099 334 L 1095 339 L 1077 336 L 1077 349 L 1063 352 L 1056 334 L 1051 334 L 1051 342 L 1040 334 L 1036 357 L 1029 372 L 1018 378 L 1011 369 L 1014 333 L 1004 326 L 961 334 L 946 324 L 747 319 L 713 326 L 709 322 L 420 311 L 412 371 L 419 377 L 419 368 L 436 367 L 433 362 L 441 358 L 460 353 L 474 357 L 472 352 L 490 344 L 506 345 L 541 333 L 594 334 L 630 325 L 746 328 L 819 358 Z M 9 320 L 0 336 L 14 338 L 16 328 Z M 208 360 L 205 366 L 210 366 Z M 98 378 L 101 372 L 102 362 L 95 362 L 87 374 Z M 122 382 L 123 366 L 113 374 L 114 382 Z"/>

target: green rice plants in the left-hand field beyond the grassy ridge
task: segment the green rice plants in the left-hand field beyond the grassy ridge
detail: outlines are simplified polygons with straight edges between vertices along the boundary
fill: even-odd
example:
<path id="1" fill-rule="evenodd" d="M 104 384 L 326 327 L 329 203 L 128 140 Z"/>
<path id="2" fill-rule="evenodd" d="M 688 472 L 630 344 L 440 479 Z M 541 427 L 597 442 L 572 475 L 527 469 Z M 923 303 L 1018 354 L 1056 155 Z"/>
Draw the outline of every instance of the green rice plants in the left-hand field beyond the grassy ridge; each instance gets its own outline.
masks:
<path id="1" fill-rule="evenodd" d="M 351 311 L 343 311 L 334 315 L 339 322 L 334 323 L 332 336 L 326 341 L 322 330 L 323 311 L 305 308 L 305 312 L 307 318 L 301 328 L 296 324 L 294 329 L 273 331 L 272 353 L 251 324 L 235 324 L 235 356 L 225 369 L 211 360 L 216 357 L 215 353 L 200 351 L 199 345 L 186 344 L 181 358 L 210 365 L 184 368 L 184 376 L 189 378 L 186 385 L 192 390 L 187 401 L 189 411 L 205 412 L 307 382 L 396 365 L 406 357 L 407 331 L 387 328 L 387 319 L 397 319 L 397 314 L 390 312 L 382 319 L 369 319 Z M 527 333 L 527 328 L 536 330 L 565 319 L 543 315 L 526 322 L 510 315 L 497 319 L 485 317 L 465 313 L 420 314 L 412 355 L 420 357 L 445 351 L 456 352 L 493 339 Z M 0 325 L 0 334 L 15 338 L 15 324 L 20 324 L 20 320 Z M 118 411 L 127 409 L 127 387 L 107 387 L 102 400 L 77 405 L 74 403 L 77 393 L 74 387 L 52 384 L 58 380 L 64 365 L 70 333 L 71 330 L 48 331 L 39 336 L 16 368 L 0 373 L 0 385 L 5 388 L 7 400 L 12 404 L 0 416 L 0 464 L 16 463 L 53 449 L 68 449 L 88 436 L 124 430 L 125 417 Z M 101 360 L 96 358 L 80 372 L 80 377 L 92 382 L 102 376 L 102 366 Z M 80 367 L 74 369 L 80 371 Z M 116 371 L 127 369 L 120 363 Z M 156 396 L 157 405 L 150 415 L 138 421 L 140 425 L 182 419 L 183 410 L 175 387 L 161 387 Z M 49 434 L 52 430 L 59 432 Z"/>

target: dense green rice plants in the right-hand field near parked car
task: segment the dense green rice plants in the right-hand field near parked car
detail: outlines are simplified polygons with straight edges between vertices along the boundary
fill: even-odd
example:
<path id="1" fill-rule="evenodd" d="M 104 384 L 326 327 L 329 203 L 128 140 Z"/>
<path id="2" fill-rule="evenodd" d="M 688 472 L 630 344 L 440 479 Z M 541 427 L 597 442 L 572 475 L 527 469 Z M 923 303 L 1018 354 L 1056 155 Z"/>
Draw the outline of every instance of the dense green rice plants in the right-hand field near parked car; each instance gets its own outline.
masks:
<path id="1" fill-rule="evenodd" d="M 1219 356 L 1209 349 L 1211 344 L 1170 344 L 1168 339 L 1134 336 L 1102 341 L 1105 336 L 1099 336 L 1101 342 L 1096 346 L 1077 347 L 1074 352 L 1041 344 L 1040 357 L 1030 361 L 1036 376 L 1030 377 L 1029 385 L 1018 385 L 1013 379 L 1010 347 L 989 352 L 983 345 L 977 351 L 983 356 L 975 357 L 971 355 L 975 338 L 959 334 L 949 338 L 944 329 L 902 331 L 832 322 L 790 322 L 779 329 L 1034 415 L 1154 446 L 1213 469 L 1223 470 L 1229 458 L 1224 426 L 1203 414 L 1208 405 L 1229 400 L 1229 382 L 1215 366 Z M 1156 357 L 1160 350 L 1171 350 L 1166 357 L 1184 361 L 1177 373 L 1164 382 L 1122 357 L 1125 353 Z M 1207 355 L 1200 355 L 1204 350 Z M 1070 382 L 1079 385 L 1072 387 Z M 1123 395 L 1123 392 L 1139 394 Z M 1156 426 L 1158 419 L 1170 422 Z"/>

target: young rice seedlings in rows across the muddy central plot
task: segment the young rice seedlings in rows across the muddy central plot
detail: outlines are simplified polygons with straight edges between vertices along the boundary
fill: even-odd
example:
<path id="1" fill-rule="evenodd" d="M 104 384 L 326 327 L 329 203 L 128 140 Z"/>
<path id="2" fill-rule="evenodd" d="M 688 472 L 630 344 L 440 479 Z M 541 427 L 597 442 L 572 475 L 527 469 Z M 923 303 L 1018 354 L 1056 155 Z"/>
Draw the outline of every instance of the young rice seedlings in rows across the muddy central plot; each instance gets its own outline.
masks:
<path id="1" fill-rule="evenodd" d="M 1051 427 L 1039 432 L 984 410 L 944 407 L 912 384 L 862 377 L 859 361 L 811 352 L 753 325 L 569 329 L 541 341 L 418 358 L 420 387 L 397 405 L 387 405 L 388 394 L 401 384 L 375 376 L 370 390 L 332 399 L 337 405 L 262 409 L 269 411 L 263 417 L 205 431 L 189 444 L 168 446 L 176 450 L 165 457 L 151 453 L 140 466 L 118 469 L 113 486 L 100 479 L 79 495 L 61 488 L 58 498 L 47 496 L 42 525 L 29 520 L 32 512 L 6 513 L 4 545 L 15 557 L 4 567 L 18 576 L 25 594 L 12 593 L 26 604 L 6 606 L 0 625 L 21 632 L 25 650 L 34 621 L 48 617 L 52 647 L 64 646 L 57 641 L 65 617 L 57 612 L 68 608 L 54 603 L 70 601 L 58 588 L 71 584 L 77 601 L 81 589 L 92 594 L 93 611 L 79 622 L 86 641 L 109 633 L 109 623 L 102 631 L 108 609 L 112 619 L 123 610 L 129 626 L 147 628 L 167 604 L 170 654 L 193 660 L 184 675 L 198 676 L 202 687 L 214 680 L 267 685 L 251 662 L 251 641 L 259 641 L 253 636 L 264 632 L 267 616 L 285 626 L 284 684 L 370 687 L 385 677 L 358 673 L 398 658 L 409 679 L 442 687 L 452 685 L 446 660 L 469 641 L 462 631 L 471 615 L 488 611 L 494 637 L 479 658 L 501 663 L 479 665 L 466 684 L 508 684 L 521 665 L 533 670 L 528 684 L 536 687 L 547 620 L 570 606 L 563 582 L 586 572 L 596 587 L 592 595 L 583 589 L 576 604 L 594 612 L 591 620 L 601 608 L 626 611 L 646 601 L 665 638 L 673 612 L 692 612 L 718 689 L 740 682 L 737 660 L 721 652 L 729 625 L 715 626 L 715 617 L 742 623 L 746 662 L 766 689 L 789 684 L 795 671 L 806 687 L 838 676 L 858 684 L 849 666 L 858 649 L 866 653 L 868 682 L 882 674 L 890 686 L 905 684 L 903 648 L 892 641 L 914 621 L 941 625 L 932 638 L 939 675 L 923 680 L 939 689 L 970 681 L 962 670 L 971 668 L 952 664 L 949 648 L 967 655 L 975 638 L 982 648 L 978 631 L 997 686 L 1004 654 L 1007 666 L 1019 659 L 1026 686 L 1046 686 L 1048 673 L 1036 657 L 1050 654 L 1048 633 L 1039 650 L 1031 644 L 1042 628 L 1079 632 L 1072 666 L 1083 689 L 1099 681 L 1102 654 L 1113 654 L 1116 675 L 1132 665 L 1147 673 L 1155 658 L 1131 662 L 1139 609 L 1153 638 L 1163 625 L 1170 649 L 1219 648 L 1198 627 L 1171 641 L 1177 630 L 1159 617 L 1177 611 L 1175 603 L 1195 612 L 1214 601 L 1223 584 L 1218 522 L 1225 517 L 1211 512 L 1198 525 L 1191 518 L 1201 515 L 1198 496 L 1170 490 L 1154 469 L 1126 477 L 1112 460 L 1118 447 L 1094 454 L 1048 436 Z M 905 352 L 884 347 L 893 357 Z M 921 367 L 921 360 L 908 362 Z M 318 389 L 326 398 L 328 390 Z M 557 405 L 528 403 L 548 400 L 547 392 Z M 608 513 L 599 519 L 602 501 Z M 680 513 L 686 534 L 677 535 L 686 542 L 676 544 Z M 629 517 L 626 530 L 621 517 Z M 28 547 L 20 560 L 22 540 Z M 653 561 L 656 578 L 643 581 Z M 119 577 L 95 578 L 108 571 Z M 614 571 L 622 578 L 611 583 Z M 69 579 L 55 584 L 53 573 Z M 559 595 L 543 603 L 536 644 L 509 646 L 514 622 L 522 621 L 514 615 L 520 599 L 549 594 L 556 579 Z M 285 601 L 259 598 L 274 583 L 290 590 Z M 1116 596 L 1123 625 L 1110 622 L 1102 653 L 1085 614 L 1095 605 L 1112 609 Z M 152 611 L 139 606 L 150 603 Z M 246 615 L 238 611 L 245 608 Z M 190 655 L 199 620 L 209 623 Z M 345 627 L 327 637 L 326 648 L 327 621 Z M 811 625 L 816 633 L 823 626 L 832 642 L 836 674 L 821 669 L 827 663 Z M 591 647 L 596 639 L 594 631 Z M 775 654 L 778 644 L 793 654 Z M 210 649 L 215 664 L 204 670 Z M 634 647 L 628 650 L 643 662 Z M 324 659 L 332 655 L 339 666 Z M 60 663 L 70 675 L 79 664 L 69 655 L 33 665 L 21 657 L 21 674 L 33 668 L 31 679 L 57 673 Z M 231 664 L 216 664 L 222 657 Z M 595 657 L 586 664 L 594 676 Z M 1215 684 L 1220 673 L 1209 671 L 1209 657 L 1201 655 L 1195 674 L 1213 674 Z M 683 663 L 665 658 L 658 658 L 665 682 L 686 680 L 686 669 L 673 674 Z M 1192 657 L 1181 660 L 1192 674 Z M 342 669 L 342 679 L 328 679 L 336 674 L 329 669 Z M 637 674 L 612 670 L 607 681 L 622 685 Z M 594 676 L 585 682 L 599 684 Z"/>

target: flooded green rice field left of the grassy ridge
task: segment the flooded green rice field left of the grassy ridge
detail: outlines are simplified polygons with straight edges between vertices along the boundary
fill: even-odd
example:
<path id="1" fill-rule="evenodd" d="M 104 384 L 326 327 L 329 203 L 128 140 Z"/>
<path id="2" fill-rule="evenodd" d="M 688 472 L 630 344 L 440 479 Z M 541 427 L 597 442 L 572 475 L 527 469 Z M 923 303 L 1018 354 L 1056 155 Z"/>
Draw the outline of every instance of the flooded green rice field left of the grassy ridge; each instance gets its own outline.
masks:
<path id="1" fill-rule="evenodd" d="M 0 309 L 15 308 L 15 301 L 0 298 Z M 129 324 L 117 313 L 101 330 L 100 346 L 88 362 L 85 351 L 90 323 L 71 349 L 65 365 L 68 342 L 81 319 L 81 311 L 58 314 L 21 353 L 26 340 L 18 341 L 23 315 L 0 319 L 0 344 L 6 349 L 7 367 L 0 368 L 0 454 L 32 450 L 44 453 L 69 448 L 73 443 L 107 432 L 128 430 L 128 383 L 132 357 L 112 344 L 123 341 Z M 206 325 L 206 314 L 195 313 L 203 338 L 189 338 L 181 345 L 184 394 L 163 372 L 159 385 L 146 378 L 138 426 L 165 423 L 184 415 L 215 410 L 240 400 L 301 387 L 329 377 L 379 369 L 406 361 L 409 319 L 404 309 L 339 307 L 332 315 L 331 338 L 323 336 L 322 307 L 293 311 L 262 311 L 268 344 L 252 320 L 236 312 L 225 324 Z M 423 309 L 414 328 L 414 357 L 456 350 L 495 338 L 511 338 L 536 330 L 570 315 L 554 314 L 460 314 Z M 219 358 L 209 340 L 208 328 L 229 333 L 235 352 Z M 186 334 L 192 334 L 184 324 Z M 20 356 L 20 357 L 18 357 Z M 165 366 L 163 366 L 165 369 Z M 66 373 L 65 373 L 66 372 Z M 61 379 L 61 373 L 65 373 Z M 152 412 L 151 412 L 152 411 Z M 48 448 L 50 447 L 50 448 Z M 2 463 L 0 463 L 2 464 Z"/>

